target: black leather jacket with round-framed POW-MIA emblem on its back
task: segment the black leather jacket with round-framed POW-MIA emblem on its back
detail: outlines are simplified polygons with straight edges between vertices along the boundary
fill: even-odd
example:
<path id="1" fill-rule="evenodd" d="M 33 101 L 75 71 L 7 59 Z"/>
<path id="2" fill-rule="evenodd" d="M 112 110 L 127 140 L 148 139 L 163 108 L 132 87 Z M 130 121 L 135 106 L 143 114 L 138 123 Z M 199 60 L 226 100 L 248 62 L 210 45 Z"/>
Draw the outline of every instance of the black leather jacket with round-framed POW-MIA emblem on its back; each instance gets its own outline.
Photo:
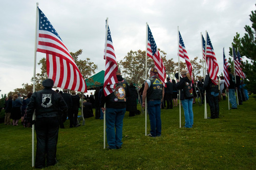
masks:
<path id="1" fill-rule="evenodd" d="M 34 92 L 27 107 L 27 118 L 32 122 L 32 115 L 35 110 L 37 118 L 55 117 L 68 110 L 68 106 L 62 96 L 51 88 Z"/>

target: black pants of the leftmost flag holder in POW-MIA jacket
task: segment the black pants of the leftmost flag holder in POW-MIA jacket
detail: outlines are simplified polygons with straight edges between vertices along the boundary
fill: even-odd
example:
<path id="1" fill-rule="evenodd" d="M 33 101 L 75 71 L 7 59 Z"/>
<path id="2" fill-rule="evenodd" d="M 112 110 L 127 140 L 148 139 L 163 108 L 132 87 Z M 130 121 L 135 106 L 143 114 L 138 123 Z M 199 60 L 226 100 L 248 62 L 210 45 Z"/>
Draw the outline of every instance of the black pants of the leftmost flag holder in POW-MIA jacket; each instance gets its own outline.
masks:
<path id="1" fill-rule="evenodd" d="M 37 118 L 35 123 L 36 131 L 36 158 L 35 167 L 45 167 L 56 163 L 56 149 L 59 132 L 58 117 Z"/>

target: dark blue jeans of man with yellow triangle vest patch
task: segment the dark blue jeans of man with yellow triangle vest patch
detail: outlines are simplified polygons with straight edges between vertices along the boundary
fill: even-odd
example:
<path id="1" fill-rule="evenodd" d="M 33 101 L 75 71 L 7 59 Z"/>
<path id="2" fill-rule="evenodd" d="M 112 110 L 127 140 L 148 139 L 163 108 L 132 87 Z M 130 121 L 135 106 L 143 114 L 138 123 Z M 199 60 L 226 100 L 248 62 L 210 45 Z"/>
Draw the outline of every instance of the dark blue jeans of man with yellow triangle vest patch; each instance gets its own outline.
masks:
<path id="1" fill-rule="evenodd" d="M 147 102 L 148 115 L 150 115 L 151 135 L 161 136 L 161 100 Z"/>

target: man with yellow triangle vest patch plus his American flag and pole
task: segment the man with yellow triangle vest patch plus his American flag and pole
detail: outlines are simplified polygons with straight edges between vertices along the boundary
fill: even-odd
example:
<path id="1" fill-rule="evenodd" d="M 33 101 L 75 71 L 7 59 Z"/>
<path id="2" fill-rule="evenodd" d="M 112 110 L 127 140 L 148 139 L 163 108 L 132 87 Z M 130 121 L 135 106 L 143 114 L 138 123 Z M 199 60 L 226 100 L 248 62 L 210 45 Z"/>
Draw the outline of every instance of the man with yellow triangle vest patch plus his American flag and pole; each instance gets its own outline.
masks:
<path id="1" fill-rule="evenodd" d="M 145 135 L 146 134 L 146 109 L 150 115 L 151 133 L 148 136 L 161 136 L 161 102 L 164 97 L 164 87 L 166 84 L 165 67 L 150 27 L 146 23 L 146 56 L 154 60 L 155 66 L 150 70 L 150 79 L 145 81 L 142 94 L 142 106 L 145 107 Z M 147 64 L 147 62 L 146 62 Z M 147 65 L 145 65 L 145 75 L 147 75 Z M 158 76 L 158 77 L 157 77 Z"/>

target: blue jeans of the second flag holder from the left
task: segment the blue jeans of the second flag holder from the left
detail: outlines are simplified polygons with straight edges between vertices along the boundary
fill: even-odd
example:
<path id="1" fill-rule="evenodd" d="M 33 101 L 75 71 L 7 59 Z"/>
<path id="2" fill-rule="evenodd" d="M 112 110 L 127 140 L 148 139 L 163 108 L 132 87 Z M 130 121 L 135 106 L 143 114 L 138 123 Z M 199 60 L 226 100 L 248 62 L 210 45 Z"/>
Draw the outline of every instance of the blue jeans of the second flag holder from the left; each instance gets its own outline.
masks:
<path id="1" fill-rule="evenodd" d="M 125 108 L 106 108 L 106 139 L 111 149 L 121 147 L 123 144 L 122 129 L 125 110 Z"/>

